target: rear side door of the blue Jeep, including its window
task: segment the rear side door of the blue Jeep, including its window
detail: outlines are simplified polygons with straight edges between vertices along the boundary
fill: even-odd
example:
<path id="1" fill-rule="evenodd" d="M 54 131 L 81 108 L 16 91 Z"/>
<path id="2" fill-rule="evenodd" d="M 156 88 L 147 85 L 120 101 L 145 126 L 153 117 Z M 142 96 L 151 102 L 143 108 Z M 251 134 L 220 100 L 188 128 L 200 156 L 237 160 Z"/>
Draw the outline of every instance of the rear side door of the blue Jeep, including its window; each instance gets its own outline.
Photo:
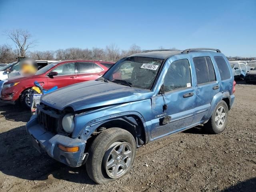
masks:
<path id="1" fill-rule="evenodd" d="M 220 91 L 220 84 L 216 80 L 216 70 L 210 56 L 194 57 L 193 62 L 196 69 L 194 123 L 197 124 L 205 120 L 214 95 Z"/>

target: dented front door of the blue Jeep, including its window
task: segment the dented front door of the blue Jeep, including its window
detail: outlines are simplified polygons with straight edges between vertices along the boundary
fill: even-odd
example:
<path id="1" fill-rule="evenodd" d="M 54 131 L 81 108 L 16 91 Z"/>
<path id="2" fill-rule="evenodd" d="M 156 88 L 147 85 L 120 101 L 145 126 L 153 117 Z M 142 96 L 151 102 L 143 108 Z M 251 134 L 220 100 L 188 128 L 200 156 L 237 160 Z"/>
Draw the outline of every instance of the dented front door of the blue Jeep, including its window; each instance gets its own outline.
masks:
<path id="1" fill-rule="evenodd" d="M 152 98 L 151 139 L 157 139 L 191 126 L 194 118 L 196 89 L 192 84 L 188 59 L 170 64 L 164 77 L 164 94 Z M 167 110 L 164 110 L 167 106 Z M 162 124 L 165 116 L 170 123 Z"/>

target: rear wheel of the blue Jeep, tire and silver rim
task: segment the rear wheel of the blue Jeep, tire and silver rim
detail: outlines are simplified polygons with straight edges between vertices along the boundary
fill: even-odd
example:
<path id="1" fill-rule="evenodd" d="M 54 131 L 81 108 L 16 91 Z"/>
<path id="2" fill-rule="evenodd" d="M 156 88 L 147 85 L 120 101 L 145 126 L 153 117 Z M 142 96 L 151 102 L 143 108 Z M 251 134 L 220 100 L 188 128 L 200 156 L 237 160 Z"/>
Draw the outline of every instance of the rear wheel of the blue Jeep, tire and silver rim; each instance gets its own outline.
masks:
<path id="1" fill-rule="evenodd" d="M 210 134 L 219 134 L 225 130 L 227 123 L 228 105 L 226 104 L 225 101 L 221 100 L 217 104 L 216 108 L 214 109 L 214 112 L 212 113 L 211 118 L 208 120 L 205 126 Z"/>

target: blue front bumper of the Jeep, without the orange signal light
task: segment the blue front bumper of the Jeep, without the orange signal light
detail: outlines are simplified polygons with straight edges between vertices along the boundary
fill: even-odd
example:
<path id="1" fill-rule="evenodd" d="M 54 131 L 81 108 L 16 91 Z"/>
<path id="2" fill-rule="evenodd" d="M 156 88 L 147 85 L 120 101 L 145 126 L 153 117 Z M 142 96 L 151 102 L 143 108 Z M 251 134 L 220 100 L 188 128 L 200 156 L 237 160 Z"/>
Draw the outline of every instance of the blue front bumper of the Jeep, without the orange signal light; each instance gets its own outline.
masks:
<path id="1" fill-rule="evenodd" d="M 44 130 L 38 124 L 37 115 L 33 115 L 26 124 L 26 130 L 32 139 L 32 145 L 39 151 L 46 151 L 49 156 L 71 167 L 78 167 L 85 163 L 88 153 L 84 153 L 85 141 L 78 138 L 53 134 Z M 65 152 L 58 148 L 58 144 L 66 147 L 78 146 L 77 152 Z"/>

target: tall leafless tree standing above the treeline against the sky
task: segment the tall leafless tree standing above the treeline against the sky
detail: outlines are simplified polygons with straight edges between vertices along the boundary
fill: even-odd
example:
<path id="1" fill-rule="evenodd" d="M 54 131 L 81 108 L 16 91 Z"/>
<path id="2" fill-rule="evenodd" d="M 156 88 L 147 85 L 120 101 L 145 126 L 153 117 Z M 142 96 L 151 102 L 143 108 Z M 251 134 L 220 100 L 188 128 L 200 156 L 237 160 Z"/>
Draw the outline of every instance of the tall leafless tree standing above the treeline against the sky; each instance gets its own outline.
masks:
<path id="1" fill-rule="evenodd" d="M 27 30 L 16 29 L 6 31 L 5 34 L 14 42 L 18 56 L 25 56 L 29 48 L 36 46 L 36 41 L 32 40 L 32 35 Z"/>

